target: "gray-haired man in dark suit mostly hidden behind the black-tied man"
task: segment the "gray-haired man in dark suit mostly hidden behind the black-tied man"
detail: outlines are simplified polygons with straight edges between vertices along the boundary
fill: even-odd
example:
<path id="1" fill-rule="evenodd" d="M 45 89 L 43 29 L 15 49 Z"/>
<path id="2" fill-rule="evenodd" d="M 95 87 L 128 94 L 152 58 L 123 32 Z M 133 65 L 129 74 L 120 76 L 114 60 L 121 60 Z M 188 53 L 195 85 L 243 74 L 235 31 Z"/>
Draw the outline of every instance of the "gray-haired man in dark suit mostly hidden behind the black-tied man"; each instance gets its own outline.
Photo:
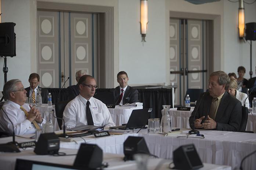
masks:
<path id="1" fill-rule="evenodd" d="M 76 72 L 76 82 L 78 83 L 80 77 L 82 77 L 83 75 L 86 75 L 86 71 L 84 70 L 79 70 Z M 76 85 L 72 85 L 72 86 L 69 86 L 67 88 L 68 90 L 68 99 L 69 100 L 72 100 L 74 99 L 75 97 L 77 97 L 79 95 L 79 87 L 78 87 L 78 84 Z"/>

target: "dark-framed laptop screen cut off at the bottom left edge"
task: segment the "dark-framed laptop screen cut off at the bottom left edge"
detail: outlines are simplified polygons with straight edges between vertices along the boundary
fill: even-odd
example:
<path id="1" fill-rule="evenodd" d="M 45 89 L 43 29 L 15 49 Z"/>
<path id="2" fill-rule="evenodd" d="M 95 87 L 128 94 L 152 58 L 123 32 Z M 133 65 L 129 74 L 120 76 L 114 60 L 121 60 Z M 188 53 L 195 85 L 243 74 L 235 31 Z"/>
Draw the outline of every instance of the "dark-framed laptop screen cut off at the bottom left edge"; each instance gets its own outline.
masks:
<path id="1" fill-rule="evenodd" d="M 17 159 L 15 164 L 15 170 L 82 170 L 82 168 L 56 163 Z"/>

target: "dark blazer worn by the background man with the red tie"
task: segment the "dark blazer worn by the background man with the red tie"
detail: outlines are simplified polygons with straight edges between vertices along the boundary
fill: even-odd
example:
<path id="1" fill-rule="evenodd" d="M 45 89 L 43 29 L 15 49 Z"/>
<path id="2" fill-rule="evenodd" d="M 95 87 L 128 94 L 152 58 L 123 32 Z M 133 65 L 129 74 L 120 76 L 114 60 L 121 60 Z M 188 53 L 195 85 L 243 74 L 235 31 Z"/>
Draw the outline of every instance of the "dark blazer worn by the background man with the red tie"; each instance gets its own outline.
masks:
<path id="1" fill-rule="evenodd" d="M 115 98 L 115 102 L 116 105 L 118 105 L 118 99 L 120 96 L 120 86 L 116 87 L 113 91 L 114 93 L 114 98 Z M 125 103 L 134 103 L 134 102 L 140 102 L 138 99 L 139 96 L 139 92 L 137 89 L 134 89 L 130 86 L 127 86 L 126 90 L 125 90 L 125 94 L 123 95 L 123 104 Z"/>

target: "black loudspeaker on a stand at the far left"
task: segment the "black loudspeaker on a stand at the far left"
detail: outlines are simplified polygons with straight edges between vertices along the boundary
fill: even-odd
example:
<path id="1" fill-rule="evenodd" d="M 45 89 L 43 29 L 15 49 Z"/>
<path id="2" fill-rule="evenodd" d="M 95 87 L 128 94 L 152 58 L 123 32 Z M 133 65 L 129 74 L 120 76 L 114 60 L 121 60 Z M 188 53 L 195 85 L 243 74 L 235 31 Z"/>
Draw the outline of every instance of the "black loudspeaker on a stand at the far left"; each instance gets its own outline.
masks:
<path id="1" fill-rule="evenodd" d="M 0 23 L 0 56 L 16 56 L 16 34 L 13 22 Z"/>

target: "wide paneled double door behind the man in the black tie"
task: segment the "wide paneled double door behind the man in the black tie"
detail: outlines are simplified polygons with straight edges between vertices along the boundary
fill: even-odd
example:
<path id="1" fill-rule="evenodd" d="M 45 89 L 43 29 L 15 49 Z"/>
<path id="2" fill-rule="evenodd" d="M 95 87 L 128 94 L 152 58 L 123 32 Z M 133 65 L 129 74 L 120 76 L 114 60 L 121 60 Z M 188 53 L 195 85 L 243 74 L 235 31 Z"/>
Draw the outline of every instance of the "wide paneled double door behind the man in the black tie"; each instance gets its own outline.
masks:
<path id="1" fill-rule="evenodd" d="M 76 84 L 75 73 L 97 75 L 97 15 L 37 11 L 37 70 L 40 86 Z M 95 77 L 97 79 L 97 77 Z"/>

